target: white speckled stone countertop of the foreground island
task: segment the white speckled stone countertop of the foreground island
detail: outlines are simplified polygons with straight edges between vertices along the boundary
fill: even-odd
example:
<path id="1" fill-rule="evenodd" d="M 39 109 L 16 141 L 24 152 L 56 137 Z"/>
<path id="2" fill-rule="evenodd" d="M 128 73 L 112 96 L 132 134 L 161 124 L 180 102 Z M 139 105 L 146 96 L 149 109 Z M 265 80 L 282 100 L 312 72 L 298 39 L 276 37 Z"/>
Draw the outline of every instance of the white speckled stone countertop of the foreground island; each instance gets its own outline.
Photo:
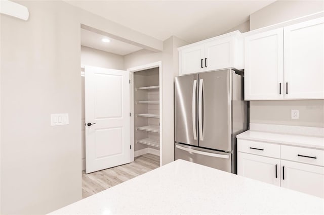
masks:
<path id="1" fill-rule="evenodd" d="M 323 214 L 324 199 L 176 160 L 51 214 Z"/>

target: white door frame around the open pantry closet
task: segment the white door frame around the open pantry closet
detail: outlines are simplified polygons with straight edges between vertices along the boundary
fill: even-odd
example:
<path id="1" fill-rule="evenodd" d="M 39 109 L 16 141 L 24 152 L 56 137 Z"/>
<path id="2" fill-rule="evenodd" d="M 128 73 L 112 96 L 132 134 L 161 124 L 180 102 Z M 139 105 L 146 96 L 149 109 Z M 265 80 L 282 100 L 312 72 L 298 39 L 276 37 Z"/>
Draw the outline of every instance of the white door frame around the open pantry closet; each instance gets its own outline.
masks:
<path id="1" fill-rule="evenodd" d="M 162 113 L 162 107 L 163 107 L 163 99 L 162 99 L 162 62 L 161 61 L 157 61 L 154 63 L 150 63 L 150 64 L 145 64 L 145 65 L 141 65 L 141 66 L 136 66 L 136 67 L 132 67 L 127 69 L 128 72 L 130 72 L 130 103 L 131 105 L 131 162 L 134 161 L 134 72 L 139 72 L 139 71 L 143 71 L 143 70 L 148 70 L 148 69 L 153 69 L 153 68 L 158 68 L 158 82 L 159 82 L 159 116 L 160 116 L 160 134 L 159 134 L 159 138 L 160 138 L 160 147 L 159 147 L 159 151 L 160 151 L 160 167 L 163 164 L 163 121 L 161 119 L 163 119 L 163 113 Z"/>

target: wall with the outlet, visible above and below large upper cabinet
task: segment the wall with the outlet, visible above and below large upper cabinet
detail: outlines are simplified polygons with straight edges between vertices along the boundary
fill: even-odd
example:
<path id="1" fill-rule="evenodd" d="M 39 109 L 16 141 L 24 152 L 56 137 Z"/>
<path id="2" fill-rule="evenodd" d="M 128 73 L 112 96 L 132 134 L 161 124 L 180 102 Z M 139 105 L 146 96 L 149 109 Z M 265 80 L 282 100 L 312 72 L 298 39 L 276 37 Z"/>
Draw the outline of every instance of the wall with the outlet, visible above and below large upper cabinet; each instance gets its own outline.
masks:
<path id="1" fill-rule="evenodd" d="M 254 30 L 323 10 L 323 1 L 276 1 L 250 15 L 250 28 Z M 324 127 L 323 100 L 251 101 L 250 104 L 251 123 Z M 291 119 L 292 109 L 299 110 L 299 120 Z"/>

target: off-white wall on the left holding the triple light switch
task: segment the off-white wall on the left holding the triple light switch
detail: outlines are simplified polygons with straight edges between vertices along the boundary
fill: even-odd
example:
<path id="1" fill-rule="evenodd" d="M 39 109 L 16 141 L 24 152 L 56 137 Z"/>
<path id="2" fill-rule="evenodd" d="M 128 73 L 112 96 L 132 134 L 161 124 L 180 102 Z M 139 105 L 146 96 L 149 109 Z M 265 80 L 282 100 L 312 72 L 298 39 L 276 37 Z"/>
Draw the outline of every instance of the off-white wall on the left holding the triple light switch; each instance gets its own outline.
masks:
<path id="1" fill-rule="evenodd" d="M 19 4 L 28 21 L 1 15 L 1 214 L 41 214 L 82 197 L 80 23 L 63 2 Z"/>

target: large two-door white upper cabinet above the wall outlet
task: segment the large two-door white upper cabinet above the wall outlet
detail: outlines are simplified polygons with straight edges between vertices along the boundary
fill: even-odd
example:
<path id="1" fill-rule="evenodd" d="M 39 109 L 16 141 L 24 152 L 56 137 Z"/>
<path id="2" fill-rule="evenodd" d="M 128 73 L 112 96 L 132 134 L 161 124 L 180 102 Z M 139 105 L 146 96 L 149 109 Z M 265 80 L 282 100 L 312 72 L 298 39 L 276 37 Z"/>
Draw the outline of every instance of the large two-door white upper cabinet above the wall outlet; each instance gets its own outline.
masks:
<path id="1" fill-rule="evenodd" d="M 324 98 L 324 18 L 245 38 L 245 100 Z"/>

